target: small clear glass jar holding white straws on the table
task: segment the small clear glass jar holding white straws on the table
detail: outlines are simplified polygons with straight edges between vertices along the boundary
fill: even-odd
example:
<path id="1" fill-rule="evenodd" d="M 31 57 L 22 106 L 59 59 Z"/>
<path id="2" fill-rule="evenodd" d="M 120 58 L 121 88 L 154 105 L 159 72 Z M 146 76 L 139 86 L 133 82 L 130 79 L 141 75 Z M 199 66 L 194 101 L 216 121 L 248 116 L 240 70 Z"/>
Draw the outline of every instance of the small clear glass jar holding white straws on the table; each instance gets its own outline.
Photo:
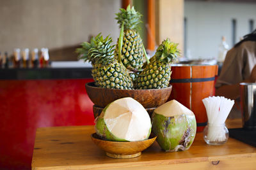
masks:
<path id="1" fill-rule="evenodd" d="M 207 124 L 204 128 L 204 141 L 208 145 L 221 145 L 228 140 L 228 129 L 225 124 Z"/>

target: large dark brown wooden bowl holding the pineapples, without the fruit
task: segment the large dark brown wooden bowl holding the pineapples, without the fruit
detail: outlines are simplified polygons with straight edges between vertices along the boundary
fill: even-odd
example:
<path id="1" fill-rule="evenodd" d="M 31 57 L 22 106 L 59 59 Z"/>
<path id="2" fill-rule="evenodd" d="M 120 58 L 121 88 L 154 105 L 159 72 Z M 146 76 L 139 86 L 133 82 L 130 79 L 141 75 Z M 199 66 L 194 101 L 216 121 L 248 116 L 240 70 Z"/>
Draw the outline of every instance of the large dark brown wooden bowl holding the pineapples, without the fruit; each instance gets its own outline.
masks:
<path id="1" fill-rule="evenodd" d="M 123 97 L 132 97 L 144 108 L 156 108 L 164 104 L 172 92 L 172 85 L 164 89 L 121 90 L 95 87 L 94 82 L 90 82 L 85 87 L 92 102 L 100 108 Z"/>

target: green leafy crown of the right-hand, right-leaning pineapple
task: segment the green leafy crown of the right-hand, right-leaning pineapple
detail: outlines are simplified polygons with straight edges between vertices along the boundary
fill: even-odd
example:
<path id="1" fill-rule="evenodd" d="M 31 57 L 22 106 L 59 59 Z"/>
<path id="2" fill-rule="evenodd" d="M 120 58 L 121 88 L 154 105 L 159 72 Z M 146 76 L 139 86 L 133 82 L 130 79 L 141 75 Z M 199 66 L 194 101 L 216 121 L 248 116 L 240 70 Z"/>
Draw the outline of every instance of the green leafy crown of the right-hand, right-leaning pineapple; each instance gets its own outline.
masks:
<path id="1" fill-rule="evenodd" d="M 156 59 L 162 62 L 172 63 L 180 54 L 180 51 L 177 48 L 178 45 L 178 43 L 173 43 L 168 38 L 165 39 L 156 50 Z"/>

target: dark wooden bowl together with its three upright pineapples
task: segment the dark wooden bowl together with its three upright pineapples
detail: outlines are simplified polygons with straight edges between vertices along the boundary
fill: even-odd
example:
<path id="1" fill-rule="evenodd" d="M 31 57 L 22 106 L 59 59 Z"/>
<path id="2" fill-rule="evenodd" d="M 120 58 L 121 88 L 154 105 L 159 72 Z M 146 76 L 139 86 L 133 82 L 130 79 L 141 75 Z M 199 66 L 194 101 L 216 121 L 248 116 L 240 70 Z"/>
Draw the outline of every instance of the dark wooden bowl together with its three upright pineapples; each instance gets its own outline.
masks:
<path id="1" fill-rule="evenodd" d="M 116 14 L 121 30 L 116 45 L 111 45 L 109 36 L 103 38 L 99 34 L 77 49 L 81 59 L 89 60 L 93 66 L 95 81 L 85 87 L 95 107 L 104 108 L 116 99 L 132 97 L 144 108 L 156 108 L 172 92 L 170 65 L 179 54 L 177 44 L 164 40 L 148 59 L 137 31 L 140 17 L 133 7 L 121 9 Z"/>

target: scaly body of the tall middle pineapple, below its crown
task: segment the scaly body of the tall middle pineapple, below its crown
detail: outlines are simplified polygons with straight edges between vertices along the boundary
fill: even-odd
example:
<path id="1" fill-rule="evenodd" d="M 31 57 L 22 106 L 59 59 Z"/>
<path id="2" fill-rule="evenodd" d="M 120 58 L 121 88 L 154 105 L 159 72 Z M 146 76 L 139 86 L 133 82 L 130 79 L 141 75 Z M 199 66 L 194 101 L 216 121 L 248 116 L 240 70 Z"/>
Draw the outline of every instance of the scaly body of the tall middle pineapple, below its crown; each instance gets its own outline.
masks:
<path id="1" fill-rule="evenodd" d="M 116 52 L 118 43 L 116 44 Z M 127 29 L 124 31 L 121 60 L 127 69 L 141 69 L 143 66 L 143 42 L 137 31 Z"/>

